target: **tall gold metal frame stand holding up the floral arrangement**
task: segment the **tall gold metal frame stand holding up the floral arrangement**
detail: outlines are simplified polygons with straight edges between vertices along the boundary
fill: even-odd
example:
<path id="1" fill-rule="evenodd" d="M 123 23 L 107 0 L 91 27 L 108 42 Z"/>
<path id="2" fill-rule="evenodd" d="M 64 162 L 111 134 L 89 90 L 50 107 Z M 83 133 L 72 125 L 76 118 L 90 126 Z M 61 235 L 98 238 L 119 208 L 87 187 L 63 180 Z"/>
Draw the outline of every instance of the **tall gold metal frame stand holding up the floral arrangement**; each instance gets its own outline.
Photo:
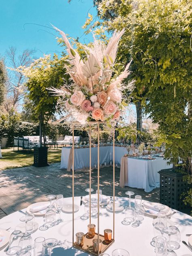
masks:
<path id="1" fill-rule="evenodd" d="M 98 198 L 97 198 L 97 215 L 98 215 L 98 221 L 97 221 L 97 233 L 95 233 L 95 236 L 90 239 L 87 238 L 87 233 L 84 235 L 84 244 L 82 247 L 80 247 L 79 245 L 77 245 L 76 241 L 74 241 L 74 130 L 76 130 L 76 125 L 79 124 L 78 122 L 73 123 L 73 146 L 72 146 L 72 158 L 73 158 L 73 164 L 72 164 L 72 194 L 73 194 L 73 246 L 78 248 L 79 250 L 82 250 L 83 252 L 87 252 L 88 254 L 92 254 L 92 255 L 98 255 L 105 252 L 109 246 L 114 243 L 115 241 L 115 129 L 113 130 L 113 238 L 111 239 L 111 242 L 106 243 L 105 239 L 104 239 L 104 235 L 100 234 L 100 216 L 99 216 L 99 193 L 98 193 Z M 99 191 L 99 187 L 100 187 L 100 181 L 99 181 L 99 173 L 100 173 L 100 162 L 99 162 L 99 153 L 100 153 L 100 147 L 99 147 L 99 143 L 100 143 L 100 136 L 99 136 L 99 130 L 100 130 L 100 124 L 105 124 L 104 122 L 89 122 L 87 125 L 89 126 L 89 149 L 90 149 L 90 168 L 89 168 L 89 172 L 90 172 L 90 189 L 91 189 L 91 174 L 92 174 L 92 167 L 91 167 L 91 130 L 92 130 L 92 126 L 96 126 L 97 127 L 97 137 L 98 137 L 98 164 L 97 164 L 97 189 Z M 111 159 L 110 159 L 111 160 Z M 90 198 L 89 198 L 89 202 L 90 202 L 90 211 L 89 211 L 89 224 L 91 224 L 91 193 L 90 193 Z M 86 228 L 86 227 L 85 227 Z M 83 232 L 83 230 L 79 230 L 79 232 Z M 97 252 L 93 251 L 93 239 L 98 239 L 98 250 Z M 101 251 L 99 249 L 99 239 L 101 239 L 102 241 L 102 245 L 101 245 Z"/>

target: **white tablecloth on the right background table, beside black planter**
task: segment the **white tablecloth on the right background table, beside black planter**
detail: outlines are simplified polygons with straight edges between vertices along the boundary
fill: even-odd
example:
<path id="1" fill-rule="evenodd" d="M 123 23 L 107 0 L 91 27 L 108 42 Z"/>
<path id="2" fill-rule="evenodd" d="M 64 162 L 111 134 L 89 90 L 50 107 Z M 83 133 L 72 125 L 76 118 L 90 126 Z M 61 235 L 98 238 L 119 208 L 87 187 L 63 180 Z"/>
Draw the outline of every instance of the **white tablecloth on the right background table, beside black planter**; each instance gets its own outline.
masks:
<path id="1" fill-rule="evenodd" d="M 159 188 L 160 178 L 158 171 L 172 167 L 163 158 L 154 160 L 127 158 L 127 162 L 128 183 L 125 186 L 143 188 L 145 192 Z"/>

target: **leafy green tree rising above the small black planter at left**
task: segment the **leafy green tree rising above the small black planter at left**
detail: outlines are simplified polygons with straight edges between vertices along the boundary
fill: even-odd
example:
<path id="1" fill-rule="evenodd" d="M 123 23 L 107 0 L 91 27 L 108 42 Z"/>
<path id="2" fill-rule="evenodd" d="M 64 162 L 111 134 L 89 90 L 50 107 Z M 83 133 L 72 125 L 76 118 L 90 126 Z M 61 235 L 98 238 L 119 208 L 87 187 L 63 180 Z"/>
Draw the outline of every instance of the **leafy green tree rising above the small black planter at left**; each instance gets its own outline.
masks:
<path id="1" fill-rule="evenodd" d="M 58 59 L 57 55 L 50 58 L 45 55 L 35 60 L 29 67 L 20 67 L 20 72 L 27 78 L 28 89 L 28 110 L 32 111 L 32 118 L 39 122 L 40 126 L 40 147 L 42 130 L 45 138 L 45 126 L 56 111 L 58 97 L 53 96 L 48 88 L 59 88 L 63 83 L 69 83 L 69 76 L 66 75 L 66 57 Z M 58 110 L 60 113 L 60 110 Z"/>

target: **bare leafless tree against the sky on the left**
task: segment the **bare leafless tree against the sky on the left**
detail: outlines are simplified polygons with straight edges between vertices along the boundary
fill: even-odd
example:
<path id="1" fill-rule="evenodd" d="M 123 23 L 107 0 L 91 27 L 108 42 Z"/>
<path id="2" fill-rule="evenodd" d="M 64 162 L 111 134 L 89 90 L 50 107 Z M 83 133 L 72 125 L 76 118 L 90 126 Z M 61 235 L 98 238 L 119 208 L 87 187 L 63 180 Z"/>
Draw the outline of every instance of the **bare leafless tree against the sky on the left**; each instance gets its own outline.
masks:
<path id="1" fill-rule="evenodd" d="M 9 79 L 6 88 L 6 100 L 4 109 L 9 112 L 12 108 L 17 109 L 26 93 L 25 77 L 18 69 L 19 67 L 28 67 L 33 62 L 32 56 L 34 50 L 26 49 L 17 56 L 17 49 L 10 47 L 6 51 L 6 60 L 9 61 Z"/>

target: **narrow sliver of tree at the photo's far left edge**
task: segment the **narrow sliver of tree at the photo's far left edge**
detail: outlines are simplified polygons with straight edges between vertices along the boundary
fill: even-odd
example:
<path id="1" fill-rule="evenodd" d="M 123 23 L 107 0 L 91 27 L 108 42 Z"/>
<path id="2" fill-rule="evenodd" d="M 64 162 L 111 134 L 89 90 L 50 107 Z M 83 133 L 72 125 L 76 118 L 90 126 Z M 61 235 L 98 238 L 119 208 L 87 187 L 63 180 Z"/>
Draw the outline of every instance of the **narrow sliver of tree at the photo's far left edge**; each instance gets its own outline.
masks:
<path id="1" fill-rule="evenodd" d="M 6 82 L 7 82 L 7 74 L 4 65 L 4 60 L 0 59 L 0 107 L 2 107 L 4 103 L 5 93 L 6 93 Z"/>

